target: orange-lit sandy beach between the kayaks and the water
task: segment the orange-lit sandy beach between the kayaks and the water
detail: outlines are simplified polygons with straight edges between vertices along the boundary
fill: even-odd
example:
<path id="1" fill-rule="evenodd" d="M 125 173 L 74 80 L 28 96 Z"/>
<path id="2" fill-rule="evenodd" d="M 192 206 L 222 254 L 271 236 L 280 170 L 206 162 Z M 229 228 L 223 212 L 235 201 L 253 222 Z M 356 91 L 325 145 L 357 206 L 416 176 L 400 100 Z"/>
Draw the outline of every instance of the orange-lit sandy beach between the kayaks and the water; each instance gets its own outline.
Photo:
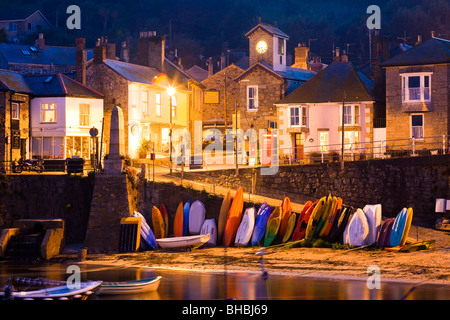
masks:
<path id="1" fill-rule="evenodd" d="M 265 248 L 264 266 L 269 274 L 367 279 L 369 266 L 377 266 L 383 281 L 450 284 L 450 233 L 412 226 L 407 240 L 435 240 L 428 250 L 410 253 L 382 248 Z M 261 272 L 259 247 L 203 247 L 192 252 L 141 251 L 90 254 L 81 263 L 145 266 L 197 272 Z M 71 260 L 73 254 L 59 258 Z M 76 258 L 76 255 L 75 255 Z"/>

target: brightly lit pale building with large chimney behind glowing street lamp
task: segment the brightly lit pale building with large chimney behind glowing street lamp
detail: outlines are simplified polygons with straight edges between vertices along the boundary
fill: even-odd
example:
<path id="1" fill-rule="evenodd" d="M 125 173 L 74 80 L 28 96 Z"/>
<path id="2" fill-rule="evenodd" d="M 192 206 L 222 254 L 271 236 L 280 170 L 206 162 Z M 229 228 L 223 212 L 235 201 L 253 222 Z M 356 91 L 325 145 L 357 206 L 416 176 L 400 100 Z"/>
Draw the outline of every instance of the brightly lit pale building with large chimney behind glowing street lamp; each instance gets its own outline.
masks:
<path id="1" fill-rule="evenodd" d="M 143 139 L 154 143 L 155 152 L 167 155 L 171 127 L 172 130 L 193 132 L 194 121 L 201 119 L 203 86 L 166 59 L 165 36 L 156 36 L 154 31 L 142 32 L 137 64 L 108 58 L 107 49 L 101 43 L 94 48 L 91 61 L 87 61 L 82 52 L 80 48 L 79 78 L 83 78 L 85 72 L 87 86 L 104 95 L 106 146 L 109 144 L 111 111 L 115 106 L 123 110 L 125 152 L 131 157 L 138 156 Z M 175 89 L 172 98 L 167 91 L 169 86 Z"/>

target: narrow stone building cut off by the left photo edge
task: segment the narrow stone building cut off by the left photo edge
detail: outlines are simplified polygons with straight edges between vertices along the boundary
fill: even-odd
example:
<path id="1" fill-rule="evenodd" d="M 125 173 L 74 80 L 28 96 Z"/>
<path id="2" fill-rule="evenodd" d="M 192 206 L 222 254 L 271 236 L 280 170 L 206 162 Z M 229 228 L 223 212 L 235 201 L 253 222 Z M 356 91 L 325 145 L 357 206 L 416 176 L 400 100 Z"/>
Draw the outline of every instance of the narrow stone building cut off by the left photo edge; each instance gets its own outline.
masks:
<path id="1" fill-rule="evenodd" d="M 22 75 L 0 70 L 0 172 L 28 157 L 31 94 Z"/>

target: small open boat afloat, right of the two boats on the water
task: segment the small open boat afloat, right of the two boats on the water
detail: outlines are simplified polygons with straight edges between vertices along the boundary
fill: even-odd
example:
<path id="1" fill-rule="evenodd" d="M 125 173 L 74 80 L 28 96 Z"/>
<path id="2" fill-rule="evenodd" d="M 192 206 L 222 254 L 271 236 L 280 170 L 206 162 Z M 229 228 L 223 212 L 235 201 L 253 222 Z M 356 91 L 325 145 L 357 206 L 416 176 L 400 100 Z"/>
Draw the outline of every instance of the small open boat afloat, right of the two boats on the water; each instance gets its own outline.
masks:
<path id="1" fill-rule="evenodd" d="M 136 294 L 156 291 L 161 277 L 122 282 L 103 282 L 97 295 Z"/>

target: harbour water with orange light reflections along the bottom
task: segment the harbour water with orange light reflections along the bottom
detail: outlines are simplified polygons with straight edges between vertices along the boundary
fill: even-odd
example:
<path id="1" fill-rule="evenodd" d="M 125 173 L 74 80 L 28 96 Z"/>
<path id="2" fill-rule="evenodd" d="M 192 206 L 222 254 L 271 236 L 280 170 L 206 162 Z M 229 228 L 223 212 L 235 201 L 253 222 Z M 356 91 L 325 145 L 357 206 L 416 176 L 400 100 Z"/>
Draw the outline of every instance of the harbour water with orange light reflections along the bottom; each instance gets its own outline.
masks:
<path id="1" fill-rule="evenodd" d="M 365 281 L 324 279 L 269 274 L 263 280 L 258 273 L 200 273 L 151 269 L 144 267 L 78 265 L 81 280 L 127 281 L 162 276 L 157 291 L 118 296 L 92 296 L 90 299 L 126 300 L 211 300 L 236 298 L 238 300 L 396 300 L 407 299 L 448 300 L 449 285 L 414 285 L 381 282 L 381 289 L 369 290 Z M 44 277 L 67 280 L 66 264 L 44 266 L 12 265 L 0 262 L 0 281 L 9 276 Z"/>

